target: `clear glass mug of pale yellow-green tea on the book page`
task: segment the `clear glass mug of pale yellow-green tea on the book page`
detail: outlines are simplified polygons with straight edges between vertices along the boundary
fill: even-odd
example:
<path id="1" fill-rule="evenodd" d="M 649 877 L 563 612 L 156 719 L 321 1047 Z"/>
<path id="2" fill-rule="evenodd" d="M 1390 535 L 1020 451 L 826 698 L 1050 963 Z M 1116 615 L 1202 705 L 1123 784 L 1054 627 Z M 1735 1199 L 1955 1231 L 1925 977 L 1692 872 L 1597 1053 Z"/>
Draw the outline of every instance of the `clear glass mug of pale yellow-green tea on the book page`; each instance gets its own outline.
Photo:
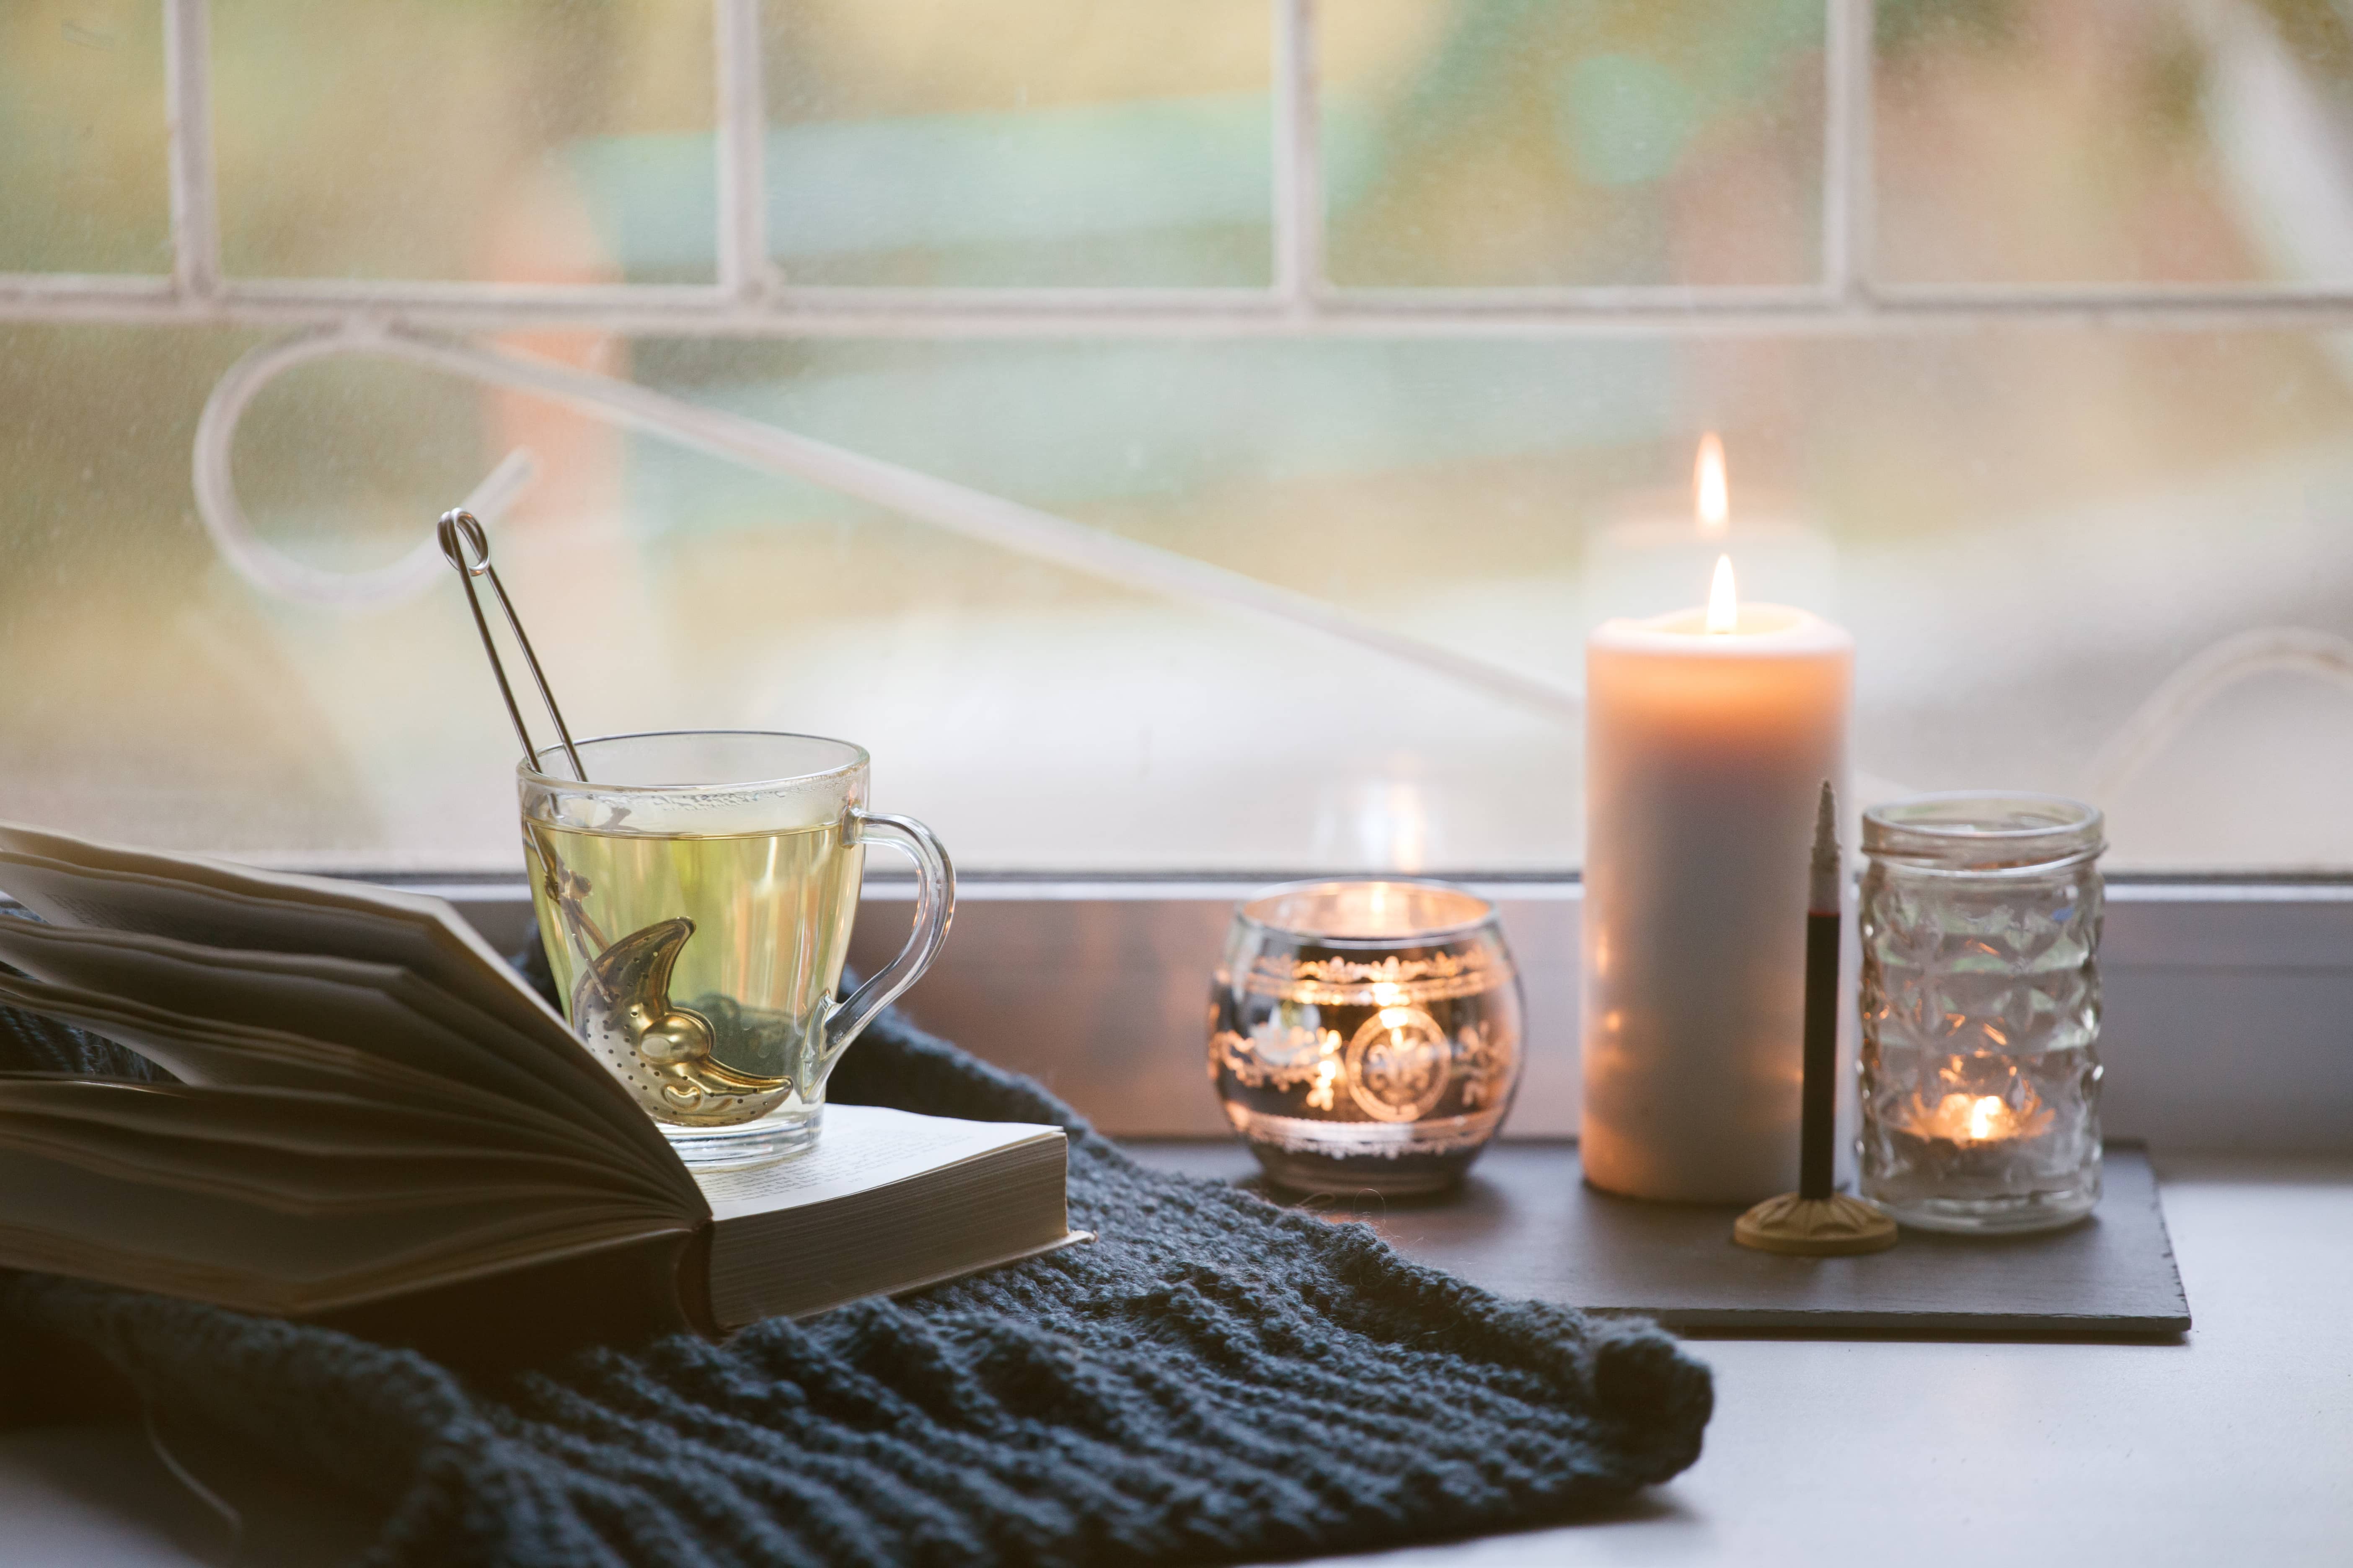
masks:
<path id="1" fill-rule="evenodd" d="M 696 1168 L 814 1147 L 833 1063 L 948 936 L 955 867 L 922 823 L 866 811 L 847 741 L 666 731 L 518 766 L 522 844 L 572 1030 Z M 866 846 L 915 863 L 915 929 L 835 999 Z"/>

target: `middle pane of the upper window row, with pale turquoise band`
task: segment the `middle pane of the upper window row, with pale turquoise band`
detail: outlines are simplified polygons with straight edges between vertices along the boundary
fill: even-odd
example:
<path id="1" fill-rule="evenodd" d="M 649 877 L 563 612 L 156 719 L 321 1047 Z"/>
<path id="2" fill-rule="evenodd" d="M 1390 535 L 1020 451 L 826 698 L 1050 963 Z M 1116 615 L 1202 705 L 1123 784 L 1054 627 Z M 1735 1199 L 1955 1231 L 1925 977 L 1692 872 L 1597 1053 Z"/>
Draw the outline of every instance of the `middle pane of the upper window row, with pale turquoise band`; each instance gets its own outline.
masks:
<path id="1" fill-rule="evenodd" d="M 1264 284 L 1266 0 L 769 0 L 805 284 Z"/>

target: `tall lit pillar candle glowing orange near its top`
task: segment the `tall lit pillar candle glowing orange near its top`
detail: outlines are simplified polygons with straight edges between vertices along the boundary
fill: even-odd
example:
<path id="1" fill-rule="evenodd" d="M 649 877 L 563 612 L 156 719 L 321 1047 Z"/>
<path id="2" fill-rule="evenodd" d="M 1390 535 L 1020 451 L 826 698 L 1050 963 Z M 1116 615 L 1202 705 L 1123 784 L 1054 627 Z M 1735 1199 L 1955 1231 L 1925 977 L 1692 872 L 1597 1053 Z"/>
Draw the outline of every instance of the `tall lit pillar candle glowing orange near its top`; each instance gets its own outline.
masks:
<path id="1" fill-rule="evenodd" d="M 1586 1178 L 1753 1204 L 1798 1185 L 1807 853 L 1847 797 L 1854 639 L 1800 609 L 1586 639 Z M 1708 630 L 1711 621 L 1718 628 Z"/>

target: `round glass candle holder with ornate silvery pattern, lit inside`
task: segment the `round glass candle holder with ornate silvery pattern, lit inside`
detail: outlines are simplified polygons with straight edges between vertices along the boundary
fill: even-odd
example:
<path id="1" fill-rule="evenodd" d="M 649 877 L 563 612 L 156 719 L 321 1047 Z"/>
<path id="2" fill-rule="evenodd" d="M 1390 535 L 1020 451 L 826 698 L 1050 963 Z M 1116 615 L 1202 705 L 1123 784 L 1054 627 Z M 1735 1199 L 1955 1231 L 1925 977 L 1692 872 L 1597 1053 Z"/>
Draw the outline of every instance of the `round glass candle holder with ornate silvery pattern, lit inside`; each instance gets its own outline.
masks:
<path id="1" fill-rule="evenodd" d="M 1209 1081 L 1268 1180 L 1438 1192 L 1520 1086 L 1520 971 L 1494 905 L 1442 882 L 1294 882 L 1233 912 Z"/>

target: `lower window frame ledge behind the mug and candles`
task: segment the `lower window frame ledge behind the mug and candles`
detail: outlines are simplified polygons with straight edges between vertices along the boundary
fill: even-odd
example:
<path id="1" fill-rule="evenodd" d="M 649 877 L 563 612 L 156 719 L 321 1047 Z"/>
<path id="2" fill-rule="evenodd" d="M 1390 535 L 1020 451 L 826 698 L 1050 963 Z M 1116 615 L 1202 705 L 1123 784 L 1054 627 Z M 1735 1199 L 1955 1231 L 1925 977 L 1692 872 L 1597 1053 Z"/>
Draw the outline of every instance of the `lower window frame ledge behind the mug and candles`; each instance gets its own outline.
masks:
<path id="1" fill-rule="evenodd" d="M 501 952 L 529 931 L 520 877 L 386 882 L 449 898 Z M 1226 875 L 967 875 L 948 945 L 901 1006 L 1045 1081 L 1108 1133 L 1221 1135 L 1200 1006 L 1233 905 L 1257 886 Z M 1527 1063 L 1504 1135 L 1577 1135 L 1584 889 L 1567 877 L 1473 886 L 1497 900 L 1527 994 Z M 889 959 L 908 889 L 868 877 L 852 964 Z M 2108 1138 L 2139 1138 L 2160 1157 L 2353 1154 L 2353 879 L 2118 877 L 2101 978 Z"/>

